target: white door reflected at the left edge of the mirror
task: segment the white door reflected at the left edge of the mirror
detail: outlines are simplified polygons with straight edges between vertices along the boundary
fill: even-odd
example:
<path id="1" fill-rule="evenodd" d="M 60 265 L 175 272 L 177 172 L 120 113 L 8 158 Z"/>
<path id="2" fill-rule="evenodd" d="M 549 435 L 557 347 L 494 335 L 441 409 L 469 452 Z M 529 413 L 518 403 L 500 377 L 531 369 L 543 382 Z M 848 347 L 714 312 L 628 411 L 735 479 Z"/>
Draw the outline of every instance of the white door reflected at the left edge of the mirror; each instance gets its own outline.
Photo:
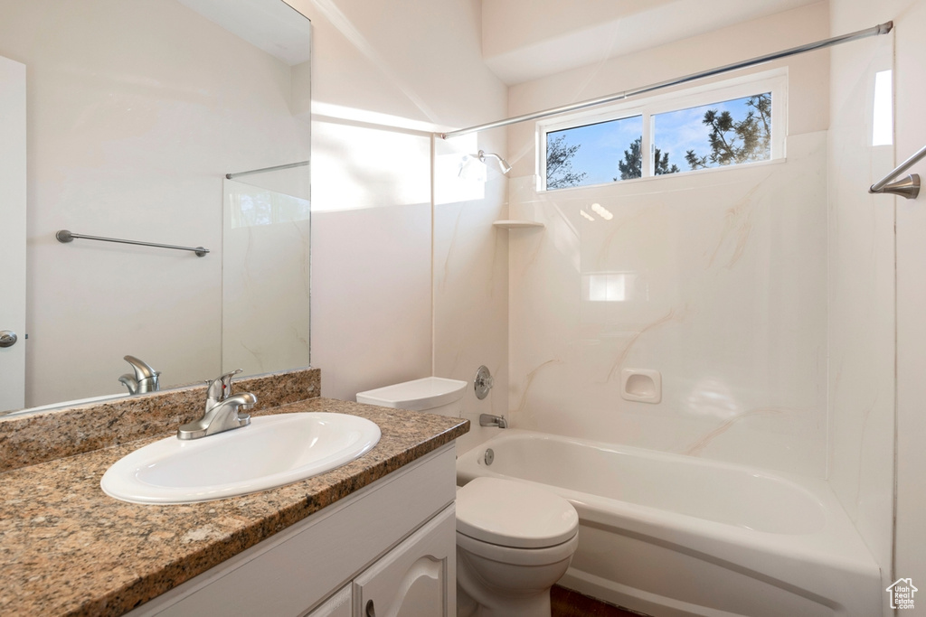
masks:
<path id="1" fill-rule="evenodd" d="M 26 65 L 3 56 L 0 56 L 0 234 L 0 412 L 3 412 L 24 407 L 26 391 Z"/>

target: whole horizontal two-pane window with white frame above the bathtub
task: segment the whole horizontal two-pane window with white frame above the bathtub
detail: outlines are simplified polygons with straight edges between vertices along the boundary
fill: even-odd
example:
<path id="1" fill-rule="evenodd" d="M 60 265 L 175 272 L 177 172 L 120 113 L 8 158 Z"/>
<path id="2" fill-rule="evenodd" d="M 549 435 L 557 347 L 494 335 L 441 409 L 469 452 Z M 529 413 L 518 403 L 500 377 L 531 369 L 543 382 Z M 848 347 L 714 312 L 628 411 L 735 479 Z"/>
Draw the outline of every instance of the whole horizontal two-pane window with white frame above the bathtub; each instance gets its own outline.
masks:
<path id="1" fill-rule="evenodd" d="M 782 71 L 539 123 L 541 190 L 783 157 Z"/>

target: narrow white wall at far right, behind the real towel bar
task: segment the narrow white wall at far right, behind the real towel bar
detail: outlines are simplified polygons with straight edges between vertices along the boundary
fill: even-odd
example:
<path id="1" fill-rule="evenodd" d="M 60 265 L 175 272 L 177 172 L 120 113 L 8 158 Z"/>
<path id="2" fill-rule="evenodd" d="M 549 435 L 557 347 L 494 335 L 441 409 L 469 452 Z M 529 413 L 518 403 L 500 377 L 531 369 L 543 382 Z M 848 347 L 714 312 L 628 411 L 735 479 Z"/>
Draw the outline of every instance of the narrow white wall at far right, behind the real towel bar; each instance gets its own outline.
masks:
<path id="1" fill-rule="evenodd" d="M 926 69 L 926 5 L 911 0 L 833 3 L 833 31 L 867 28 L 888 19 L 895 24 L 895 159 L 901 162 L 926 143 L 926 118 L 922 115 L 926 87 L 921 79 Z M 844 86 L 851 87 L 854 79 L 847 77 Z M 888 161 L 877 161 L 871 175 L 880 178 L 890 169 Z M 910 172 L 926 174 L 926 162 Z M 878 216 L 888 217 L 896 204 L 896 526 L 895 568 L 890 578 L 912 578 L 922 589 L 926 581 L 926 293 L 922 285 L 926 278 L 926 209 L 921 195 L 916 200 L 882 195 L 875 203 L 879 210 L 887 210 Z M 890 393 L 883 395 L 889 397 Z M 890 419 L 866 417 L 861 421 L 886 425 Z M 863 452 L 871 448 L 869 442 L 865 448 Z M 872 452 L 869 457 L 876 455 Z M 874 479 L 867 474 L 863 477 Z M 861 493 L 859 512 L 881 494 L 882 487 L 869 487 Z M 916 604 L 917 609 L 909 614 L 926 614 L 926 600 L 918 595 Z"/>

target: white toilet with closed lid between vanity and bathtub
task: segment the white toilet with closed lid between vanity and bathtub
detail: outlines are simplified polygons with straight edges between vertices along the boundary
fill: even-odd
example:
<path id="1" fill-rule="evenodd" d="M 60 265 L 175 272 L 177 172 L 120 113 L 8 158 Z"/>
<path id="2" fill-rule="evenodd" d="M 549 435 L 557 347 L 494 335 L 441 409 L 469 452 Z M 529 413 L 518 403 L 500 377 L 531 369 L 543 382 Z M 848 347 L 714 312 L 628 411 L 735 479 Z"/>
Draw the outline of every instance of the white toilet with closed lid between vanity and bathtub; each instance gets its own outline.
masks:
<path id="1" fill-rule="evenodd" d="M 459 416 L 467 385 L 425 377 L 359 392 L 357 402 Z M 550 491 L 494 477 L 458 487 L 459 617 L 549 617 L 550 587 L 578 546 L 578 513 Z"/>

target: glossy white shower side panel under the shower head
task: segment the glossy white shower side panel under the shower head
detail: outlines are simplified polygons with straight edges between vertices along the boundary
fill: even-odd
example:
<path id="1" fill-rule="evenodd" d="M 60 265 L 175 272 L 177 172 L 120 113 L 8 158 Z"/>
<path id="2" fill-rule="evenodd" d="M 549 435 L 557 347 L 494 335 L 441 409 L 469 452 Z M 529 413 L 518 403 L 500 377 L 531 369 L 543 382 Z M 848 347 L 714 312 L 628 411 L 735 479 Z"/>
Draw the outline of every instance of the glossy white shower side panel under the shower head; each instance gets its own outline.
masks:
<path id="1" fill-rule="evenodd" d="M 505 114 L 500 113 L 498 117 Z M 508 239 L 493 222 L 507 218 L 507 177 L 492 160 L 486 181 L 458 176 L 461 157 L 480 149 L 505 155 L 505 131 L 436 142 L 434 172 L 434 371 L 468 382 L 464 416 L 469 450 L 498 429 L 479 426 L 480 413 L 507 415 Z M 484 364 L 494 388 L 482 401 L 472 382 Z"/>

